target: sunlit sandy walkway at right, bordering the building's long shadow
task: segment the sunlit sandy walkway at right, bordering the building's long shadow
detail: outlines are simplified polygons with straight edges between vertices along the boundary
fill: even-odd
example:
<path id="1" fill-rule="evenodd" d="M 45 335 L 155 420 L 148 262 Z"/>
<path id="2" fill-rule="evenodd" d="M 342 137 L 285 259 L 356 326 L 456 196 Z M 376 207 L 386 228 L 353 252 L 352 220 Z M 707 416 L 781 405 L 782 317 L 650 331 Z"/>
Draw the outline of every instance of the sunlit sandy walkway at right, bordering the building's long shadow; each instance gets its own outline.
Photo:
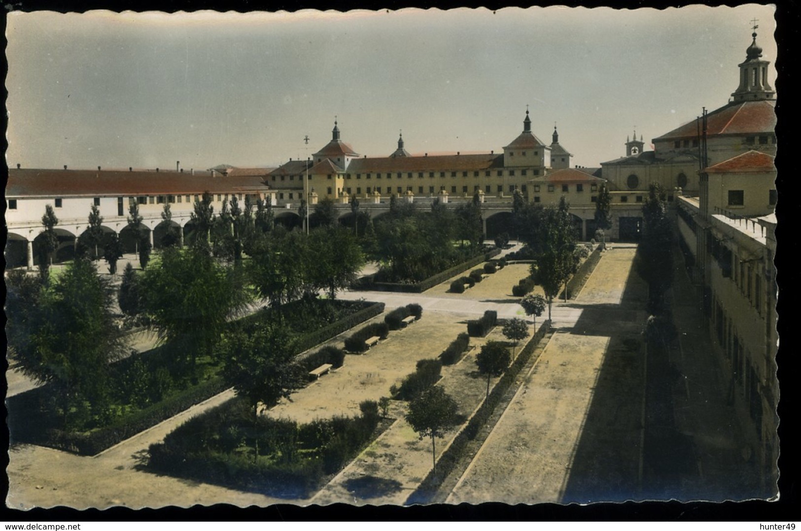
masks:
<path id="1" fill-rule="evenodd" d="M 578 453 L 584 453 L 586 429 L 596 423 L 592 405 L 599 373 L 610 353 L 611 333 L 619 333 L 626 321 L 636 321 L 614 311 L 632 289 L 642 289 L 638 278 L 630 275 L 634 253 L 634 249 L 604 253 L 575 303 L 558 307 L 554 317 L 559 329 L 448 503 L 564 500 L 568 485 L 575 482 L 571 469 Z M 574 311 L 566 311 L 571 305 Z M 584 313 L 591 305 L 602 311 L 587 319 Z M 634 322 L 630 328 L 636 328 Z M 623 429 L 631 431 L 629 425 Z M 627 461 L 636 480 L 638 450 L 629 454 Z M 608 497 L 605 492 L 595 493 L 595 499 Z"/>

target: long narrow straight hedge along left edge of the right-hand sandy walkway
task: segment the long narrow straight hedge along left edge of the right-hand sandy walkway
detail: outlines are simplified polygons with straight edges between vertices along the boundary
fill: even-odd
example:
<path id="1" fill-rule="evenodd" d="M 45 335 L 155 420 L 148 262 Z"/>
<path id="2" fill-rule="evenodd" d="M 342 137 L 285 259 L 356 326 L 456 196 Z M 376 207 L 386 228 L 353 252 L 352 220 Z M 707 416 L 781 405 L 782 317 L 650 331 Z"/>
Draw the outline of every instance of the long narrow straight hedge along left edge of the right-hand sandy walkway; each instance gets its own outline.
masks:
<path id="1" fill-rule="evenodd" d="M 429 470 L 429 473 L 425 476 L 421 484 L 417 486 L 417 489 L 409 495 L 404 505 L 429 503 L 432 501 L 442 481 L 445 477 L 448 477 L 449 473 L 453 472 L 453 469 L 458 464 L 462 453 L 465 451 L 467 442 L 473 440 L 481 427 L 489 420 L 490 415 L 492 415 L 496 406 L 501 401 L 501 398 L 509 390 L 509 387 L 511 387 L 521 369 L 529 362 L 534 349 L 537 348 L 537 345 L 539 345 L 539 342 L 545 337 L 549 329 L 550 321 L 545 321 L 540 325 L 537 332 L 534 333 L 525 347 L 517 354 L 517 358 L 513 364 L 509 369 L 506 369 L 506 372 L 501 376 L 501 379 L 497 381 L 493 390 L 489 392 L 489 397 L 485 398 L 485 401 L 481 403 L 473 414 L 473 417 L 470 417 L 467 425 L 457 433 L 457 436 L 453 438 L 451 444 L 445 449 L 445 452 L 442 453 L 437 461 L 437 473 L 435 474 L 433 469 Z"/>

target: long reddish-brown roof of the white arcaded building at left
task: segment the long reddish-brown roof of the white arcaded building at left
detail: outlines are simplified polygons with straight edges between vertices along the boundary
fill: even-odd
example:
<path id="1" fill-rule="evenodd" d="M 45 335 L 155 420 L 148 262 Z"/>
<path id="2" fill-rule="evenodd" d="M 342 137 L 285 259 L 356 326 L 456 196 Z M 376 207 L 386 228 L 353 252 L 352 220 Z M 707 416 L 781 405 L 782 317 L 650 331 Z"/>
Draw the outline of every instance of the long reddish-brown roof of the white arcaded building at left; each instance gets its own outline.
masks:
<path id="1" fill-rule="evenodd" d="M 257 176 L 209 172 L 123 170 L 9 170 L 7 197 L 212 194 L 268 190 Z"/>

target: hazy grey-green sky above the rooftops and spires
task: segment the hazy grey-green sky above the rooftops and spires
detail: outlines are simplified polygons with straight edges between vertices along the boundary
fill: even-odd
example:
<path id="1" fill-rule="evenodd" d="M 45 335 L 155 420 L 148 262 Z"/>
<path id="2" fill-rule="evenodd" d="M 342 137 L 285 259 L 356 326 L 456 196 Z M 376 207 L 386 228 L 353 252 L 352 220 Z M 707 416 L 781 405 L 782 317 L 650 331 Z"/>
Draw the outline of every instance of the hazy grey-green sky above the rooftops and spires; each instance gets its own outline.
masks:
<path id="1" fill-rule="evenodd" d="M 573 164 L 625 154 L 727 103 L 775 8 L 505 8 L 7 18 L 6 163 L 279 166 L 332 137 L 385 157 L 500 152 L 522 130 Z M 308 145 L 304 137 L 308 135 Z"/>

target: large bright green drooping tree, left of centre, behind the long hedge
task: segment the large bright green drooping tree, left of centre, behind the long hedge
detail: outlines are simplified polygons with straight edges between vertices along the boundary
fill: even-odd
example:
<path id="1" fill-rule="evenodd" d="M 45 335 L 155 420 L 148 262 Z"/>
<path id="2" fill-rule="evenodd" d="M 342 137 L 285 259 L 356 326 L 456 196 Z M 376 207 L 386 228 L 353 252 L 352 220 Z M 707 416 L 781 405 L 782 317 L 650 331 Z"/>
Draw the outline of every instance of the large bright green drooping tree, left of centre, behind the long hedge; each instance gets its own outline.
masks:
<path id="1" fill-rule="evenodd" d="M 211 357 L 228 319 L 248 301 L 237 270 L 216 262 L 202 246 L 164 250 L 157 266 L 143 272 L 140 288 L 159 341 L 183 345 L 193 367 L 198 353 Z"/>

